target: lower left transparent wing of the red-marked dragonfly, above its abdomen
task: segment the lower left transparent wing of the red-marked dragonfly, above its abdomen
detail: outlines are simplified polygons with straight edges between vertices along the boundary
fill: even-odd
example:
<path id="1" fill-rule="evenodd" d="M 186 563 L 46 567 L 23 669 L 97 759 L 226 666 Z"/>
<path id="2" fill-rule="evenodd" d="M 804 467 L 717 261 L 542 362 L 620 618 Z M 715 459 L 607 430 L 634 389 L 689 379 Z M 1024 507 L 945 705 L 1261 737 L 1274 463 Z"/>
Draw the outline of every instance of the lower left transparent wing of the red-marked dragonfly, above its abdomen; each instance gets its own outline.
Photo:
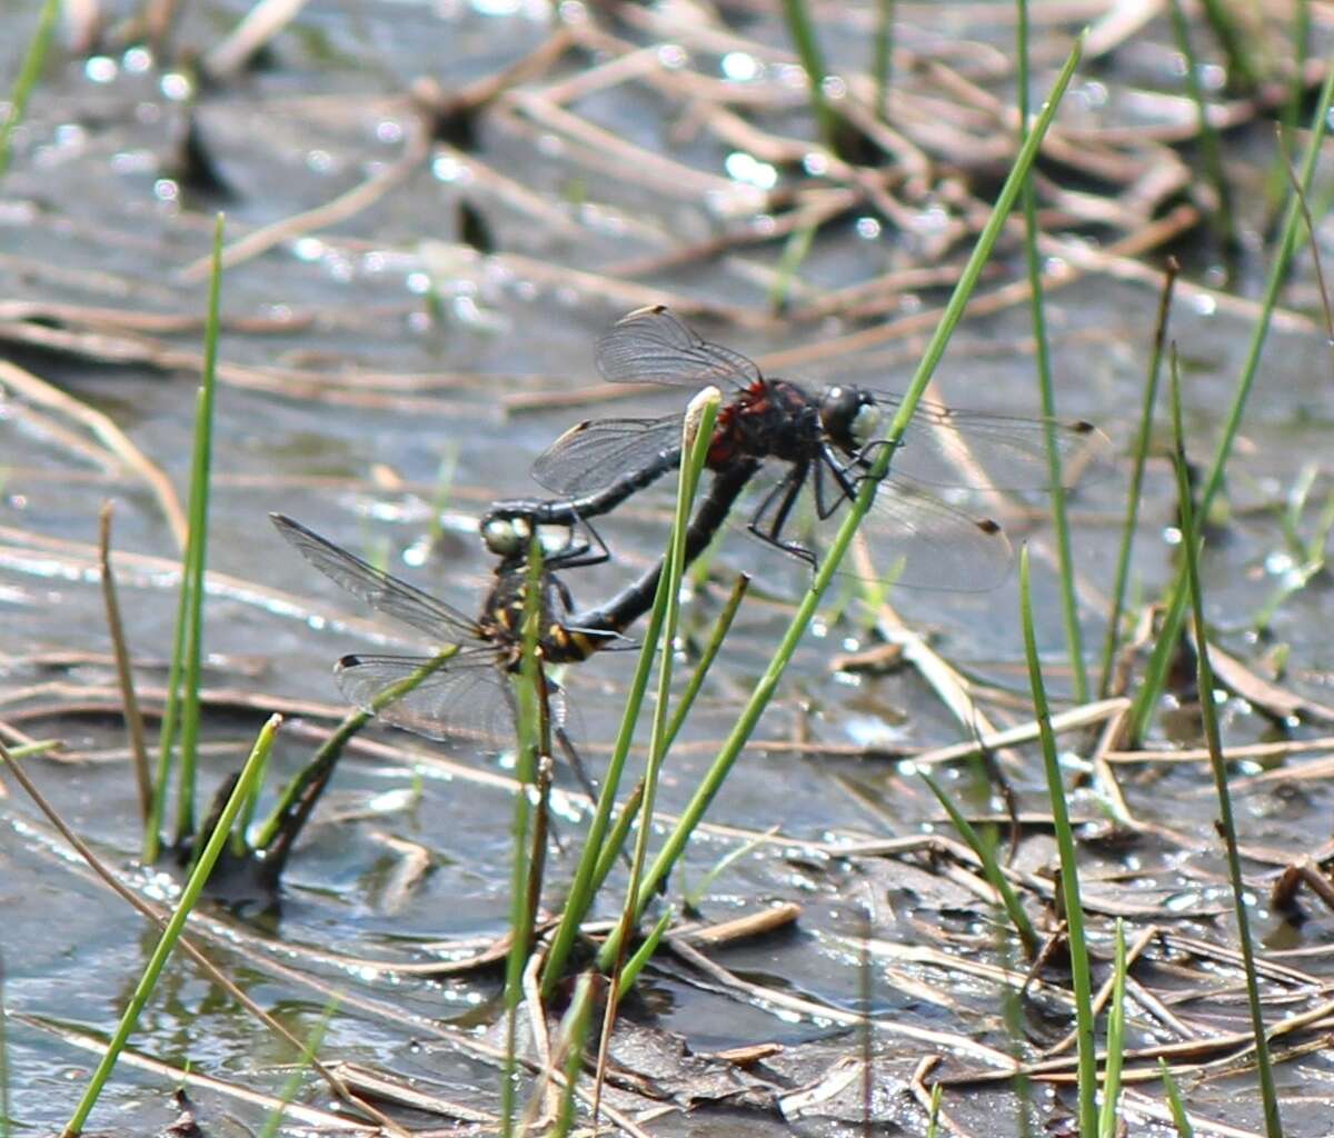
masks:
<path id="1" fill-rule="evenodd" d="M 578 496 L 650 467 L 666 472 L 679 462 L 680 415 L 587 419 L 538 455 L 532 476 L 547 490 Z"/>

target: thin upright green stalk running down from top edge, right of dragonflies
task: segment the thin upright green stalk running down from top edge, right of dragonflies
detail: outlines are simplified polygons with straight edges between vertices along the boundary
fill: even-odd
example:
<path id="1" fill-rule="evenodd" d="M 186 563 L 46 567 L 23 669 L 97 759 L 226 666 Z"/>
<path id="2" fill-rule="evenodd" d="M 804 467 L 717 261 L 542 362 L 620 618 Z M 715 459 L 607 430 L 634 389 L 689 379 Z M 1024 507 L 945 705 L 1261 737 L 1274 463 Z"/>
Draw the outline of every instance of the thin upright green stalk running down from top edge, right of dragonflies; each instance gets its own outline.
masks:
<path id="1" fill-rule="evenodd" d="M 1018 0 L 1018 96 L 1019 141 L 1029 135 L 1029 3 Z M 1033 340 L 1037 348 L 1038 391 L 1042 414 L 1047 420 L 1047 483 L 1051 495 L 1051 530 L 1057 538 L 1057 564 L 1061 570 L 1061 615 L 1066 627 L 1070 654 L 1070 678 L 1077 703 L 1089 702 L 1089 671 L 1083 658 L 1083 634 L 1079 628 L 1079 600 L 1075 596 L 1074 560 L 1070 554 L 1070 524 L 1066 519 L 1066 486 L 1061 472 L 1057 446 L 1057 400 L 1051 383 L 1051 354 L 1047 344 L 1046 302 L 1042 296 L 1042 259 L 1038 256 L 1038 204 L 1033 177 L 1023 183 L 1023 259 L 1029 271 L 1029 303 L 1033 308 Z"/>

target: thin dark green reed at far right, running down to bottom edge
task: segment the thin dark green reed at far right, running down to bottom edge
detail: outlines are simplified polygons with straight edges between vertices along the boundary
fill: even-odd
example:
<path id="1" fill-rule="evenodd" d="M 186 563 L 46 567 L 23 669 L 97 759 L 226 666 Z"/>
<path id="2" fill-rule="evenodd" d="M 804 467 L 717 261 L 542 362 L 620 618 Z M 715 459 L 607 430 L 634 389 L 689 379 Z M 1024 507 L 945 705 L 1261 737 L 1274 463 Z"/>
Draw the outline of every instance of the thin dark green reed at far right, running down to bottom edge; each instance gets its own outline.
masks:
<path id="1" fill-rule="evenodd" d="M 1278 1093 L 1274 1087 L 1269 1037 L 1265 1034 L 1265 1010 L 1259 998 L 1259 981 L 1255 977 L 1255 950 L 1251 945 L 1250 917 L 1246 913 L 1246 882 L 1242 878 L 1237 824 L 1233 818 L 1231 795 L 1227 790 L 1227 763 L 1223 758 L 1222 735 L 1218 730 L 1218 708 L 1214 706 L 1214 668 L 1209 662 L 1209 630 L 1205 626 L 1205 598 L 1199 586 L 1199 548 L 1203 539 L 1198 519 L 1203 518 L 1205 514 L 1203 510 L 1194 508 L 1190 498 L 1186 442 L 1181 426 L 1181 372 L 1177 367 L 1175 352 L 1171 354 L 1171 422 L 1182 528 L 1182 563 L 1195 626 L 1195 660 L 1199 672 L 1199 710 L 1205 722 L 1205 744 L 1209 747 L 1209 766 L 1214 775 L 1214 790 L 1218 792 L 1218 830 L 1222 832 L 1223 844 L 1227 848 L 1227 877 L 1233 887 L 1237 939 L 1242 953 L 1242 969 L 1246 973 L 1246 998 L 1250 1003 L 1251 1033 L 1255 1038 L 1255 1067 L 1259 1073 L 1261 1102 L 1265 1109 L 1265 1133 L 1269 1138 L 1282 1138 L 1283 1126 L 1278 1115 Z"/>

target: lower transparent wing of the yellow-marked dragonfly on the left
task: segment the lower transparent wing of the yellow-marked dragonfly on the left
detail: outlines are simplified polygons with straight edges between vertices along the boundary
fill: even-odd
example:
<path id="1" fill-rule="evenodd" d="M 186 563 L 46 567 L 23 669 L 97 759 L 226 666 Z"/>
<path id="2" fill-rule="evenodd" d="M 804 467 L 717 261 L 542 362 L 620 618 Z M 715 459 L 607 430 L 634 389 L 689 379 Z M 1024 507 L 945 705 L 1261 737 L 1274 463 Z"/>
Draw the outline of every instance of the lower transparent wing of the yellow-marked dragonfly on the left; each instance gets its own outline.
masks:
<path id="1" fill-rule="evenodd" d="M 411 691 L 375 712 L 375 702 L 395 684 L 430 667 L 427 656 L 344 656 L 334 667 L 350 703 L 428 739 L 468 738 L 506 747 L 514 740 L 508 676 L 494 652 L 458 655 Z"/>

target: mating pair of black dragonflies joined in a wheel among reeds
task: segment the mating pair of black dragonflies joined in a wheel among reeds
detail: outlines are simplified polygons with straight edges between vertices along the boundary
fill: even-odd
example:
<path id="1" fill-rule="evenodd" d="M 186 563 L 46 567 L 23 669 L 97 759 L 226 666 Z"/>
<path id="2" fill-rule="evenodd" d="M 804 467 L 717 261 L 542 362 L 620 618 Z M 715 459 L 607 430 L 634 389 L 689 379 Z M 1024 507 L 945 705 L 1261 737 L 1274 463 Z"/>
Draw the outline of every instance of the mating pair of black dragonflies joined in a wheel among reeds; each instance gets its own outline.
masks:
<path id="1" fill-rule="evenodd" d="M 663 307 L 619 320 L 598 343 L 598 368 L 612 383 L 652 383 L 724 391 L 706 466 L 712 483 L 687 534 L 687 559 L 698 556 L 736 510 L 746 528 L 782 554 L 819 563 L 822 535 L 868 476 L 879 431 L 900 398 L 863 387 L 823 392 L 766 378 L 739 352 L 700 339 Z M 284 538 L 317 570 L 380 612 L 455 644 L 456 655 L 402 699 L 380 710 L 396 726 L 443 738 L 467 708 L 508 706 L 508 672 L 519 666 L 520 618 L 531 535 L 566 530 L 564 544 L 542 570 L 539 651 L 550 663 L 583 660 L 624 643 L 623 632 L 652 604 L 662 566 L 587 612 L 574 612 L 558 574 L 606 560 L 594 519 L 680 466 L 680 414 L 655 419 L 594 419 L 562 435 L 534 464 L 534 478 L 559 495 L 496 502 L 483 516 L 487 548 L 499 556 L 482 615 L 471 619 L 352 554 L 275 515 Z M 1043 490 L 1049 447 L 1063 468 L 1105 460 L 1106 436 L 1085 422 L 1019 419 L 922 402 L 880 479 L 863 534 L 872 566 L 886 583 L 980 591 L 1010 570 L 1010 542 L 999 523 L 942 500 L 939 491 Z M 1071 462 L 1078 459 L 1078 462 Z M 747 503 L 746 499 L 752 499 Z M 888 567 L 892 566 L 892 570 Z M 878 578 L 879 571 L 872 570 Z M 344 656 L 339 684 L 363 708 L 391 684 L 430 662 L 404 656 Z M 496 696 L 500 696 L 498 700 Z"/>

